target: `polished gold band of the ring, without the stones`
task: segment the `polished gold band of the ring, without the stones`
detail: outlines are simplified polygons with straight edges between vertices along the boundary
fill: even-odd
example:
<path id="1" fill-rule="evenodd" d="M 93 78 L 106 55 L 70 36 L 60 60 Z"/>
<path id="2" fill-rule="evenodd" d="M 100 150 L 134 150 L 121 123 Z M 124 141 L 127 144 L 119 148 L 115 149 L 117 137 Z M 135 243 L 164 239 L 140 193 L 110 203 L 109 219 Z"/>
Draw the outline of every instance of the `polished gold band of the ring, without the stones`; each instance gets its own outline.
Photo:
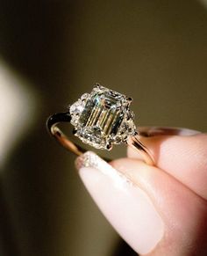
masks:
<path id="1" fill-rule="evenodd" d="M 64 135 L 57 124 L 59 122 L 70 122 L 71 115 L 69 112 L 64 113 L 54 113 L 46 121 L 46 128 L 48 132 L 53 135 L 56 140 L 61 143 L 63 147 L 67 150 L 72 151 L 77 156 L 81 156 L 86 150 L 77 145 L 76 143 L 71 142 L 68 139 L 67 135 Z M 146 146 L 140 142 L 138 136 L 131 136 L 127 140 L 127 144 L 132 148 L 139 150 L 140 155 L 144 158 L 147 165 L 154 165 L 154 160 L 151 152 L 146 148 Z M 105 159 L 109 161 L 109 159 Z"/>

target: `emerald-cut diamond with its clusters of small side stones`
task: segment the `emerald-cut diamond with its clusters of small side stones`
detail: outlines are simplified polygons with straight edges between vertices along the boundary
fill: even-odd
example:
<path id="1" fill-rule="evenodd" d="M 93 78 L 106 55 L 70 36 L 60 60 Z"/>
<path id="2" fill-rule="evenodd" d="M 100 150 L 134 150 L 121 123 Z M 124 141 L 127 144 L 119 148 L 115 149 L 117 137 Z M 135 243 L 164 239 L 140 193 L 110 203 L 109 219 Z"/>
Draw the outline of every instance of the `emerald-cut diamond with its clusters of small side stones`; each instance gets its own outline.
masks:
<path id="1" fill-rule="evenodd" d="M 96 84 L 90 94 L 84 93 L 69 108 L 75 135 L 83 143 L 98 149 L 111 150 L 112 143 L 125 143 L 129 135 L 136 135 L 132 99 Z"/>

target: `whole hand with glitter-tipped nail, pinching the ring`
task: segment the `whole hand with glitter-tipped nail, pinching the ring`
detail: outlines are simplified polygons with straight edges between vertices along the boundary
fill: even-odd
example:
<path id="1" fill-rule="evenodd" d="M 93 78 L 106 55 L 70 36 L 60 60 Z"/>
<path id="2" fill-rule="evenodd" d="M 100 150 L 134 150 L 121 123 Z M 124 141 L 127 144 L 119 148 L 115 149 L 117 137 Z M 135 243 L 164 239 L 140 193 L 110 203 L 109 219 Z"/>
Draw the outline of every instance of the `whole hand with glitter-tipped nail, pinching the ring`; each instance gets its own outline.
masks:
<path id="1" fill-rule="evenodd" d="M 207 135 L 157 136 L 146 145 L 157 167 L 132 149 L 113 167 L 85 153 L 76 162 L 83 183 L 136 252 L 207 255 Z"/>

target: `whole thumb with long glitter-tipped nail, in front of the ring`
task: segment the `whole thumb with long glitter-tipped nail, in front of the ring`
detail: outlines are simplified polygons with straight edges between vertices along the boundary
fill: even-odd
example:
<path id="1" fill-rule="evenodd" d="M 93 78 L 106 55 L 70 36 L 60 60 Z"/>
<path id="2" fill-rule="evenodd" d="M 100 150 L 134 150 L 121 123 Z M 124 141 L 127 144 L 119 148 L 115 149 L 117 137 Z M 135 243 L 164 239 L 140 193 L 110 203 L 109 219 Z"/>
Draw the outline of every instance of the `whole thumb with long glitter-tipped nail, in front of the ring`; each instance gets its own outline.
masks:
<path id="1" fill-rule="evenodd" d="M 135 252 L 206 255 L 207 205 L 200 196 L 137 159 L 118 159 L 112 165 L 93 152 L 76 160 L 89 194 Z"/>

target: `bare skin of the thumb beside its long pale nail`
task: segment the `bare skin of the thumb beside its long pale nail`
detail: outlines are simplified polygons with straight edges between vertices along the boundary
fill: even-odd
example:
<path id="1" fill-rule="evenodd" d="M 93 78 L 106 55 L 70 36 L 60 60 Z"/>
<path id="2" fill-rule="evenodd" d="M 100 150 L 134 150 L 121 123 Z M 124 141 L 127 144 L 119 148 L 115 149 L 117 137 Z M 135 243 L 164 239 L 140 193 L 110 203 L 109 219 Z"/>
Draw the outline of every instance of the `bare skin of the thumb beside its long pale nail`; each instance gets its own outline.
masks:
<path id="1" fill-rule="evenodd" d="M 161 169 L 136 159 L 111 162 L 153 201 L 165 223 L 165 235 L 147 255 L 207 255 L 207 203 Z"/>

